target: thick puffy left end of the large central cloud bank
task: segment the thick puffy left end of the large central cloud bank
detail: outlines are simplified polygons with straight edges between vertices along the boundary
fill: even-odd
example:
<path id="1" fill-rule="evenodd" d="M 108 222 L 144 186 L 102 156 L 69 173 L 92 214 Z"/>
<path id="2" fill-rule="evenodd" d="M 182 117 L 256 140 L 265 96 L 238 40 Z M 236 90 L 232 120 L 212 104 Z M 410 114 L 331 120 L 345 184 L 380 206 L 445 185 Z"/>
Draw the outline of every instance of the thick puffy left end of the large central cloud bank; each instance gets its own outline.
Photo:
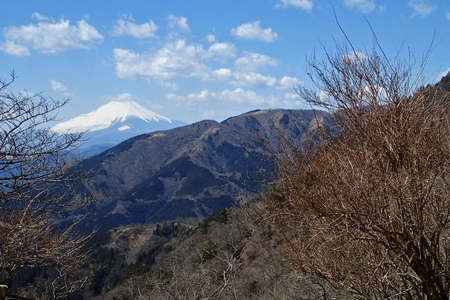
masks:
<path id="1" fill-rule="evenodd" d="M 155 80 L 203 78 L 208 72 L 204 62 L 210 56 L 201 45 L 187 44 L 184 40 L 170 42 L 154 53 L 114 49 L 113 54 L 119 78 Z"/>

